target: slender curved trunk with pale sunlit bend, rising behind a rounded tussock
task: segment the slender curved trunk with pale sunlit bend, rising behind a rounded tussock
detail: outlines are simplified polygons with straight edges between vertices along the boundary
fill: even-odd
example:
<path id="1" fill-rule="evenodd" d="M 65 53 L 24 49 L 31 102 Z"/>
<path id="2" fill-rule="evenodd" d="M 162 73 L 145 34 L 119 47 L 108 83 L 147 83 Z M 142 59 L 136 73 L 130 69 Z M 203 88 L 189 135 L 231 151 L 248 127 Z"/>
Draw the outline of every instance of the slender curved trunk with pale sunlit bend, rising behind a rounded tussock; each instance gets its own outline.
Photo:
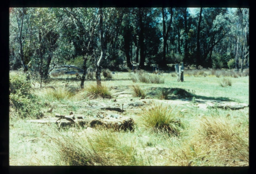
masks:
<path id="1" fill-rule="evenodd" d="M 97 85 L 101 86 L 101 78 L 100 78 L 100 73 L 101 73 L 101 62 L 105 58 L 105 47 L 104 47 L 104 40 L 103 40 L 103 31 L 102 31 L 102 25 L 103 25 L 103 13 L 102 13 L 102 8 L 99 9 L 100 13 L 100 59 L 98 60 L 96 64 L 96 81 Z"/>

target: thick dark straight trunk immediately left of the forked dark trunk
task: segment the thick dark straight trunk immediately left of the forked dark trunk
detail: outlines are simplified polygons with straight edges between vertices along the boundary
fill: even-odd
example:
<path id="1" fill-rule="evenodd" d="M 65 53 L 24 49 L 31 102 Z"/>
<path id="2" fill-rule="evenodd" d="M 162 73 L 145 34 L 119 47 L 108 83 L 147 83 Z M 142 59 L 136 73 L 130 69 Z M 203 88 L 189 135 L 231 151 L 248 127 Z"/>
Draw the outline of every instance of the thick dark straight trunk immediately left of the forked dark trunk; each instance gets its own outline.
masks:
<path id="1" fill-rule="evenodd" d="M 140 69 L 144 69 L 145 55 L 144 55 L 144 26 L 142 21 L 143 11 L 139 8 L 139 23 L 140 23 L 140 33 L 139 33 L 139 46 L 140 46 Z"/>

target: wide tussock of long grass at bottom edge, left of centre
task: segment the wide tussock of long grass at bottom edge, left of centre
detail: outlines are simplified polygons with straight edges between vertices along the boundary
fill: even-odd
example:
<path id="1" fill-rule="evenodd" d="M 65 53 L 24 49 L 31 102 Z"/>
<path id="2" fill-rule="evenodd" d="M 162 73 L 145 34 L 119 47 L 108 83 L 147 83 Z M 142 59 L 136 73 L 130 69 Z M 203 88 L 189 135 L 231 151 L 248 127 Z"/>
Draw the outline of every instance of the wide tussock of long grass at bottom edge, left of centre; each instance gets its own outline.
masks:
<path id="1" fill-rule="evenodd" d="M 100 129 L 79 139 L 66 134 L 52 140 L 61 160 L 68 165 L 135 165 L 132 141 L 125 140 L 120 132 Z"/>

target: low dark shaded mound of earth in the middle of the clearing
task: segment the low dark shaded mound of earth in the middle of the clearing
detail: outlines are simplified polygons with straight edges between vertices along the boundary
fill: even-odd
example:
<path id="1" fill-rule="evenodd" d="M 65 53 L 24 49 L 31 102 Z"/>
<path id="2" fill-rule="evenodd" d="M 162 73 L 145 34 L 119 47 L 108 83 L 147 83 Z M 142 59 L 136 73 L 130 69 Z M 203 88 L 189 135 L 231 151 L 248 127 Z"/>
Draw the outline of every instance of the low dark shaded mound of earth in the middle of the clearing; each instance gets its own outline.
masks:
<path id="1" fill-rule="evenodd" d="M 168 100 L 191 99 L 193 97 L 193 94 L 181 88 L 152 87 L 149 91 L 147 96 L 152 98 L 160 98 L 162 94 L 167 95 Z"/>

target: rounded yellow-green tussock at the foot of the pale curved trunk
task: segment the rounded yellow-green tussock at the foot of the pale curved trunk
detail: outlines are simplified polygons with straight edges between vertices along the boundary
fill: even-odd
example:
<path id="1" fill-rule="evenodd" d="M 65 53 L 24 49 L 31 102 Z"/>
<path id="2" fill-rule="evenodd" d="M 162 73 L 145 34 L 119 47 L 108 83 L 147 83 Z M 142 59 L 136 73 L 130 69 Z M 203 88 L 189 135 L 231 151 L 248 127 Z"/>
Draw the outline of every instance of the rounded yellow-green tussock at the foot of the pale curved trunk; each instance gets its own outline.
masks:
<path id="1" fill-rule="evenodd" d="M 87 96 L 91 97 L 92 99 L 96 98 L 103 98 L 103 99 L 111 99 L 112 94 L 109 90 L 109 88 L 105 85 L 97 85 L 97 84 L 91 84 L 89 87 L 86 88 Z"/>

